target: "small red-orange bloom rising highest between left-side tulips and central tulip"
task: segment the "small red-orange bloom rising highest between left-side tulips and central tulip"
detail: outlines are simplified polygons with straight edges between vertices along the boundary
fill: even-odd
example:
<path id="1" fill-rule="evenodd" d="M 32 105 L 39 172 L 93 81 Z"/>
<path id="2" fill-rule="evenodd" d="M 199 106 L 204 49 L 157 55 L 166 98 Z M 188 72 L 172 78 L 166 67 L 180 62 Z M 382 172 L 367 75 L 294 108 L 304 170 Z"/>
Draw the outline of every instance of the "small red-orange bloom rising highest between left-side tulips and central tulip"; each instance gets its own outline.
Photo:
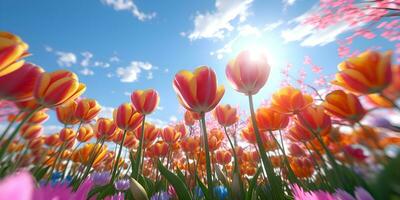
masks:
<path id="1" fill-rule="evenodd" d="M 160 97 L 154 89 L 136 90 L 131 95 L 131 101 L 139 113 L 147 115 L 157 108 Z"/>

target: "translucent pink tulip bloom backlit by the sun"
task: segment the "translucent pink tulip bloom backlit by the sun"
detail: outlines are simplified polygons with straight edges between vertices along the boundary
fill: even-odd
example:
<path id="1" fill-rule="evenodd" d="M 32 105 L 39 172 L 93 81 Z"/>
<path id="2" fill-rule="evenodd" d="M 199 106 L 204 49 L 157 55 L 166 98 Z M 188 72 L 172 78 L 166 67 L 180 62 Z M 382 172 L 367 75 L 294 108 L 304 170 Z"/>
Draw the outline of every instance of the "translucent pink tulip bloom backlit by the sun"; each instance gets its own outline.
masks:
<path id="1" fill-rule="evenodd" d="M 265 85 L 270 70 L 265 52 L 247 50 L 228 63 L 225 73 L 233 89 L 253 95 Z"/>

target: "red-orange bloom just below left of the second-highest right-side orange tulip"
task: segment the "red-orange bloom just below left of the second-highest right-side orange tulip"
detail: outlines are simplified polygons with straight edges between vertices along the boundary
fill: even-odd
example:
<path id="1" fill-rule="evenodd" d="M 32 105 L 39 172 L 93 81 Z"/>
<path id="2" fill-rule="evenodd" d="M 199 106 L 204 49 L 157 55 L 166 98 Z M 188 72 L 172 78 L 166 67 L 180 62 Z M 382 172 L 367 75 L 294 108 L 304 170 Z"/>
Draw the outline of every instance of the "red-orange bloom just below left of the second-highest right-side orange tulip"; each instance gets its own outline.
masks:
<path id="1" fill-rule="evenodd" d="M 327 135 L 332 128 L 331 118 L 325 114 L 324 107 L 321 105 L 307 107 L 297 114 L 296 119 L 299 126 L 322 136 Z"/>

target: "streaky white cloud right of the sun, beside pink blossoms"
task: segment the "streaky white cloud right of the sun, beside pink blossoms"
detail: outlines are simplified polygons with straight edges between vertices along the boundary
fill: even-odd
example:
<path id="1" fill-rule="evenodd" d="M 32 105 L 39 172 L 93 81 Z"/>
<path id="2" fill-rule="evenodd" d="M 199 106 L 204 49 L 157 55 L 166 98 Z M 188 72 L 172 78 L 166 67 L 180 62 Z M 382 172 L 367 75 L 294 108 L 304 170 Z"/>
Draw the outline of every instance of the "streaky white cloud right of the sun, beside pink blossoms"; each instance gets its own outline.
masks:
<path id="1" fill-rule="evenodd" d="M 296 25 L 281 32 L 281 36 L 285 42 L 301 41 L 301 46 L 323 46 L 335 41 L 340 34 L 361 26 L 351 26 L 345 20 L 325 29 L 317 29 L 312 25 L 304 24 L 305 19 L 318 12 L 320 12 L 320 8 L 313 6 L 306 13 L 292 20 L 291 23 L 295 23 Z"/>

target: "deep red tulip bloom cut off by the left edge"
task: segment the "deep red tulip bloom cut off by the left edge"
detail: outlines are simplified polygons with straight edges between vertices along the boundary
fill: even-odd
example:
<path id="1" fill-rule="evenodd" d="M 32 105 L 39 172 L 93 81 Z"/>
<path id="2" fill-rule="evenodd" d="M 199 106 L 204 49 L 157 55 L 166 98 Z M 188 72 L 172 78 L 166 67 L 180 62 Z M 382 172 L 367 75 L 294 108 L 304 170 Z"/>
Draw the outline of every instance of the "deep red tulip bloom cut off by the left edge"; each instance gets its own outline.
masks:
<path id="1" fill-rule="evenodd" d="M 33 98 L 33 89 L 43 69 L 25 63 L 19 69 L 0 76 L 0 98 L 11 101 L 26 101 Z"/>

